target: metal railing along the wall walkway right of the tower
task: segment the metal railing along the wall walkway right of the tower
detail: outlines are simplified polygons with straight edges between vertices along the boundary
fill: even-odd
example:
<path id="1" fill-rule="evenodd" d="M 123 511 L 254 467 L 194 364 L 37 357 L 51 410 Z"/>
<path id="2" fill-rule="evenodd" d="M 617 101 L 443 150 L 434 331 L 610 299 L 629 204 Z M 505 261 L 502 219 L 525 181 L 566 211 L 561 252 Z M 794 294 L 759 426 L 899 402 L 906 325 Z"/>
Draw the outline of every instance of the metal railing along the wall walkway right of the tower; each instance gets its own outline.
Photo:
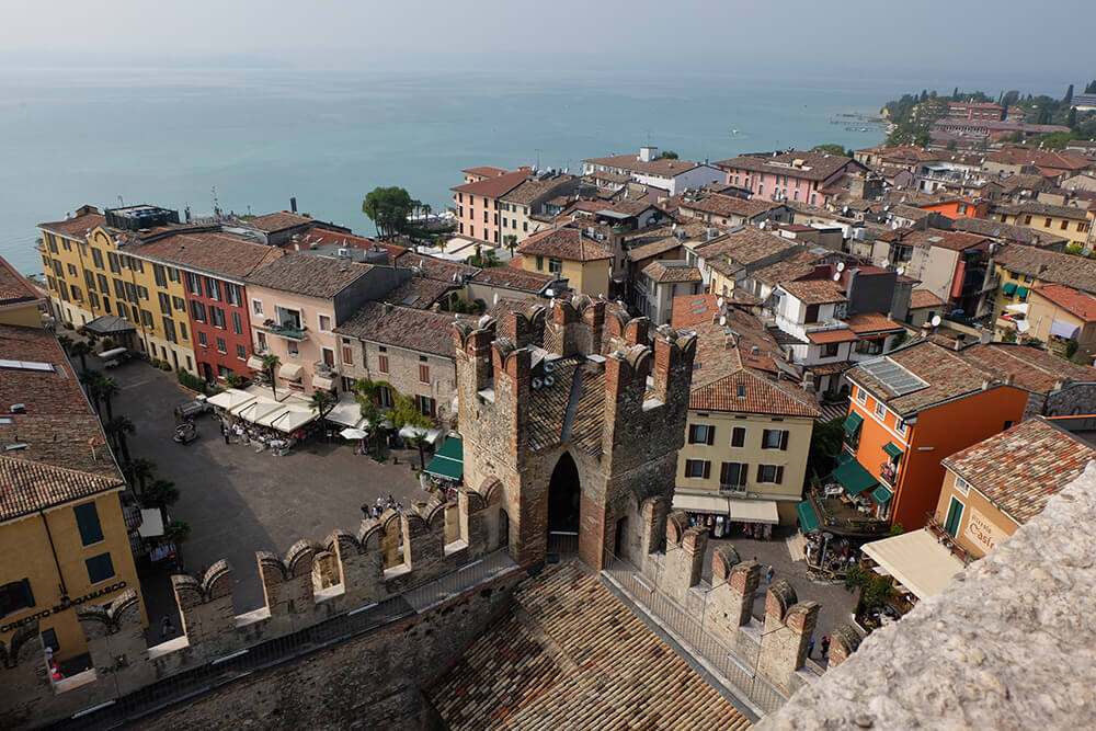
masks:
<path id="1" fill-rule="evenodd" d="M 739 647 L 732 650 L 704 629 L 706 597 L 703 606 L 687 610 L 658 589 L 661 567 L 652 567 L 644 574 L 627 559 L 608 551 L 605 567 L 602 573 L 607 579 L 640 609 L 658 619 L 686 652 L 715 670 L 721 676 L 719 679 L 726 681 L 728 692 L 755 709 L 758 716 L 770 713 L 787 701 L 787 696 L 757 674 L 758 642 L 740 632 Z"/>

